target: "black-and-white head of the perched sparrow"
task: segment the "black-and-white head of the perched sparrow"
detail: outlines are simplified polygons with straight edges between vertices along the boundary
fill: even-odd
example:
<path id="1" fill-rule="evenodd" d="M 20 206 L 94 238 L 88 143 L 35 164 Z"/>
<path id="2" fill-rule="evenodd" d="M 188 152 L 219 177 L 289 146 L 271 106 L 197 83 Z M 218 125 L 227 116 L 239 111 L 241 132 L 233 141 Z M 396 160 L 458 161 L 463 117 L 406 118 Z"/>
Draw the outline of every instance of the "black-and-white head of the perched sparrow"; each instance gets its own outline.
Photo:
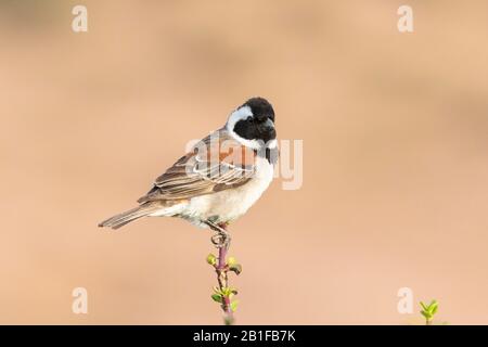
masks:
<path id="1" fill-rule="evenodd" d="M 228 126 L 248 141 L 257 140 L 266 144 L 277 138 L 273 106 L 262 98 L 252 98 L 242 104 L 229 117 Z"/>

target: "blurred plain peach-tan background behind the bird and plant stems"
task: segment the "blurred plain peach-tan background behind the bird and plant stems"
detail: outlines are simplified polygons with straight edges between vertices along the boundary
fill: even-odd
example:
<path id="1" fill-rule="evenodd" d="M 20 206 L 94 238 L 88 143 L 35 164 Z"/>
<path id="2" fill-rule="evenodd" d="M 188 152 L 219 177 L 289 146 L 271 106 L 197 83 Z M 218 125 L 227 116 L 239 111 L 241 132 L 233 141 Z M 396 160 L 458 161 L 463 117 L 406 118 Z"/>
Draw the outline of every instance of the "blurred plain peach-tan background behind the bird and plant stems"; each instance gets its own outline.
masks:
<path id="1" fill-rule="evenodd" d="M 487 33 L 486 1 L 0 1 L 0 323 L 220 324 L 211 233 L 97 223 L 253 95 L 304 184 L 231 226 L 237 323 L 488 323 Z"/>

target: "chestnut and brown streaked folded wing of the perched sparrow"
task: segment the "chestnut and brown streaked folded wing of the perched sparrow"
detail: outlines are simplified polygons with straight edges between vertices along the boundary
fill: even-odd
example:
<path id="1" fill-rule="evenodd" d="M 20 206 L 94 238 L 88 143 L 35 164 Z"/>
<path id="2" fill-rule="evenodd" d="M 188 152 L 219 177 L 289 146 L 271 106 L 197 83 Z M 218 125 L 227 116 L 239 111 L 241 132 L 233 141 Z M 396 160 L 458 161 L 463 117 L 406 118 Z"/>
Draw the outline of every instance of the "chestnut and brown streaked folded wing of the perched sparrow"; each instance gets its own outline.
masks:
<path id="1" fill-rule="evenodd" d="M 255 174 L 256 153 L 218 130 L 159 176 L 138 202 L 188 200 L 245 184 Z"/>

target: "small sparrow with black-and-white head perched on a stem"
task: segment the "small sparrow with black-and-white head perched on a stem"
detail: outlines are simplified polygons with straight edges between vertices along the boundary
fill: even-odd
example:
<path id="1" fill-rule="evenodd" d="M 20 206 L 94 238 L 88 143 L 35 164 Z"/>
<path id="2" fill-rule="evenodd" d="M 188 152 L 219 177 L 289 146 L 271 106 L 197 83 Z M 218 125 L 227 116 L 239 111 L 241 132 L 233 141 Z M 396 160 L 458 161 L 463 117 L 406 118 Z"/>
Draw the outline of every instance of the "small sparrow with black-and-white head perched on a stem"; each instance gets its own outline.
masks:
<path id="1" fill-rule="evenodd" d="M 99 227 L 118 229 L 142 217 L 179 217 L 217 231 L 216 245 L 228 244 L 227 226 L 268 189 L 277 160 L 273 107 L 266 99 L 252 98 L 159 176 L 138 207 Z"/>

